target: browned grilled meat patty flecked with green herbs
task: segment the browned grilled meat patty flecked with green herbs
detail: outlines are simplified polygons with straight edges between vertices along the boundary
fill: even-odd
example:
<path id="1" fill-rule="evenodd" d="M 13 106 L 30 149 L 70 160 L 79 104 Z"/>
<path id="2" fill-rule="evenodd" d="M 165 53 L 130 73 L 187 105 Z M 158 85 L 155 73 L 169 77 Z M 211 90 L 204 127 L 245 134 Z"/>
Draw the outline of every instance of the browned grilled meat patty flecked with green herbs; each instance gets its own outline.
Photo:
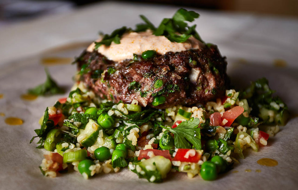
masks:
<path id="1" fill-rule="evenodd" d="M 215 45 L 147 60 L 135 55 L 123 62 L 108 60 L 97 51 L 84 51 L 76 62 L 80 80 L 101 98 L 127 104 L 138 100 L 144 107 L 204 103 L 223 95 L 228 85 L 227 63 Z M 154 98 L 164 103 L 153 106 Z"/>

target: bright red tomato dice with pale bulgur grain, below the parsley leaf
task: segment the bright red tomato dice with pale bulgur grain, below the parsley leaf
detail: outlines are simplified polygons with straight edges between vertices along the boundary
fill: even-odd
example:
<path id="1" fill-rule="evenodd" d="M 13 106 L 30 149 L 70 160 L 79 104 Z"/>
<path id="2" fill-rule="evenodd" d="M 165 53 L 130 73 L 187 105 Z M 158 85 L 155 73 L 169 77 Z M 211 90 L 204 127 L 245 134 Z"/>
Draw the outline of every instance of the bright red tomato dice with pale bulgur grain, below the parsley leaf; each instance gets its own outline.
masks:
<path id="1" fill-rule="evenodd" d="M 201 154 L 195 149 L 178 149 L 173 161 L 197 163 L 200 158 Z"/>

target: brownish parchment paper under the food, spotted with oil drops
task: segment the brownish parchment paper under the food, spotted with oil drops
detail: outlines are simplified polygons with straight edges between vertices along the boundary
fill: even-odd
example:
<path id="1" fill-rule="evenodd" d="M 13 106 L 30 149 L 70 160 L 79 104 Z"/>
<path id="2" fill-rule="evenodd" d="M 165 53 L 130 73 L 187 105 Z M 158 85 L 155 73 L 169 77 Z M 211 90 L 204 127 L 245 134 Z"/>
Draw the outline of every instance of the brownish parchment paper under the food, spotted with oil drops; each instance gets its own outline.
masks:
<path id="1" fill-rule="evenodd" d="M 0 68 L 0 89 L 4 94 L 0 99 L 0 189 L 296 189 L 297 182 L 297 146 L 298 118 L 291 118 L 285 127 L 274 138 L 268 140 L 268 146 L 259 152 L 245 152 L 241 164 L 235 164 L 232 173 L 221 175 L 216 181 L 204 181 L 196 176 L 187 178 L 186 173 L 170 173 L 161 184 L 151 184 L 137 175 L 122 169 L 119 173 L 99 174 L 84 180 L 77 172 L 61 174 L 57 178 L 44 177 L 38 166 L 43 159 L 43 150 L 36 149 L 37 139 L 29 141 L 39 128 L 38 119 L 47 106 L 58 98 L 65 97 L 73 84 L 71 80 L 76 66 L 55 65 L 49 71 L 59 85 L 65 86 L 67 93 L 52 97 L 38 97 L 34 101 L 20 99 L 30 87 L 45 80 L 44 66 L 41 57 L 64 56 L 74 57 L 82 47 L 72 51 L 61 51 L 59 54 L 34 56 L 17 62 L 2 65 Z M 290 112 L 297 114 L 297 69 L 262 66 L 265 64 L 250 62 L 245 64 L 230 58 L 228 74 L 233 84 L 242 87 L 252 79 L 267 77 L 272 89 L 288 104 Z M 6 117 L 20 117 L 23 125 L 7 125 Z M 257 164 L 257 160 L 268 157 L 278 161 L 278 166 L 266 167 Z M 251 172 L 245 172 L 250 169 Z M 261 170 L 261 173 L 255 172 Z"/>

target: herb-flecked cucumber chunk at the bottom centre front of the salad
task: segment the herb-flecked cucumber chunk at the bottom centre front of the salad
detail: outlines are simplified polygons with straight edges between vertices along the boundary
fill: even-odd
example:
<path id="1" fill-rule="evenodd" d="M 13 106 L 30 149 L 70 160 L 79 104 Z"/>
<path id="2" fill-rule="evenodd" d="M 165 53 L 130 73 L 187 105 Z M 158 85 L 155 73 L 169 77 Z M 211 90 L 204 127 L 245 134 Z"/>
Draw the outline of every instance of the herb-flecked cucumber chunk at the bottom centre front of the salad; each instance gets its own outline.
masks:
<path id="1" fill-rule="evenodd" d="M 155 156 L 129 166 L 131 171 L 139 178 L 146 178 L 149 182 L 161 182 L 172 168 L 169 159 L 162 156 Z"/>

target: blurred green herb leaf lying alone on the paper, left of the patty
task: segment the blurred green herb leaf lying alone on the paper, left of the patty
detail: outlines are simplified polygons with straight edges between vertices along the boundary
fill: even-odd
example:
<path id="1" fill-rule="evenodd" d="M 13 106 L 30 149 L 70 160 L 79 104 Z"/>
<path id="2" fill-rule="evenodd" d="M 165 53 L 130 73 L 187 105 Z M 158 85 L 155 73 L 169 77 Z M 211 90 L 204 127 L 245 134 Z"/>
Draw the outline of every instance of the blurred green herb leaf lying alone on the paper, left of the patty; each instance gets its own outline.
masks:
<path id="1" fill-rule="evenodd" d="M 46 81 L 43 84 L 36 86 L 35 88 L 29 89 L 28 93 L 36 96 L 64 93 L 64 89 L 59 87 L 57 83 L 51 78 L 48 69 L 44 70 L 47 75 Z"/>

